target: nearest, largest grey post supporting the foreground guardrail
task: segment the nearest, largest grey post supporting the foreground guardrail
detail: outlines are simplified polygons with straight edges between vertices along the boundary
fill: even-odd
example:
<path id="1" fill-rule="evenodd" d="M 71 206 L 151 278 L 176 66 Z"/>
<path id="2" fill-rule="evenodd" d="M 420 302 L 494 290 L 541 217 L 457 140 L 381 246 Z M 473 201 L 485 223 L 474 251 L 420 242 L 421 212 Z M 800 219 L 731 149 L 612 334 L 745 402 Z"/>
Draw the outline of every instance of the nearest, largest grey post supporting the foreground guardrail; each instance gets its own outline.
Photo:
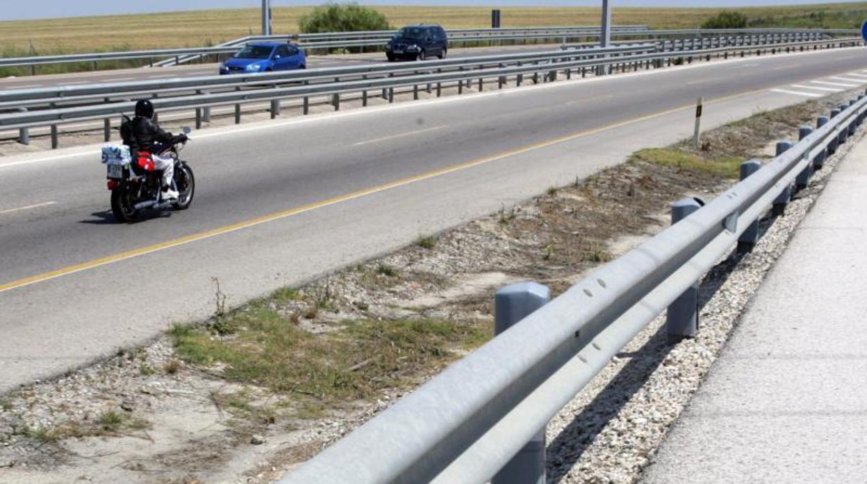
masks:
<path id="1" fill-rule="evenodd" d="M 497 334 L 526 318 L 551 300 L 551 291 L 536 282 L 506 286 L 494 295 L 494 331 Z M 491 484 L 544 484 L 544 428 L 494 475 Z"/>

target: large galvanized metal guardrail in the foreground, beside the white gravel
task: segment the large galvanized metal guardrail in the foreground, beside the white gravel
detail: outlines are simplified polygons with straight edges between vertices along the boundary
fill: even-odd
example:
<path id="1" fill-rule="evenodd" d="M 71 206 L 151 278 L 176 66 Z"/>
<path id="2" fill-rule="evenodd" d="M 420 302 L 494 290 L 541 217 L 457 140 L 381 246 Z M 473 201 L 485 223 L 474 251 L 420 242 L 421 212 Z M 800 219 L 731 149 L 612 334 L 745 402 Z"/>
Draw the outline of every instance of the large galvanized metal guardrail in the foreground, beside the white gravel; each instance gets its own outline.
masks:
<path id="1" fill-rule="evenodd" d="M 691 298 L 704 274 L 745 238 L 755 242 L 753 224 L 769 206 L 785 208 L 795 185 L 805 186 L 865 116 L 860 95 L 830 120 L 818 119 L 817 129 L 801 128 L 800 142 L 780 144 L 772 162 L 745 163 L 745 179 L 704 207 L 675 203 L 670 228 L 520 318 L 280 483 L 486 482 L 506 465 L 512 479 L 496 482 L 517 482 L 516 460 L 531 467 L 523 482 L 544 481 L 544 452 L 540 464 L 525 462 L 518 455 L 525 444 L 538 447 L 539 430 L 667 307 L 675 307 L 669 337 L 688 336 L 684 326 L 694 334 L 695 319 L 672 321 L 671 313 L 694 318 Z M 545 295 L 510 287 L 497 296 L 499 325 L 500 309 L 522 313 Z"/>

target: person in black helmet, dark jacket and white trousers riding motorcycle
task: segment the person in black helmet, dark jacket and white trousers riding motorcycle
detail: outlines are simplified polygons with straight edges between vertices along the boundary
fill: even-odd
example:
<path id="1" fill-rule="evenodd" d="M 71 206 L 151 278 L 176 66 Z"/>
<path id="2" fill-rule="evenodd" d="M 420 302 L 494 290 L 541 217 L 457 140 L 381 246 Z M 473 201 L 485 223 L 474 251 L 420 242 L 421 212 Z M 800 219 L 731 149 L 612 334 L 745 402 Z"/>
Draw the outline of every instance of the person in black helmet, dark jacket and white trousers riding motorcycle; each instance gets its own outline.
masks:
<path id="1" fill-rule="evenodd" d="M 177 190 L 172 189 L 174 177 L 174 160 L 172 157 L 153 152 L 157 143 L 173 145 L 186 141 L 186 134 L 173 136 L 153 121 L 153 103 L 150 100 L 138 100 L 135 103 L 135 117 L 121 125 L 121 138 L 138 165 L 145 171 L 161 170 L 162 199 L 164 201 L 177 199 Z"/>

